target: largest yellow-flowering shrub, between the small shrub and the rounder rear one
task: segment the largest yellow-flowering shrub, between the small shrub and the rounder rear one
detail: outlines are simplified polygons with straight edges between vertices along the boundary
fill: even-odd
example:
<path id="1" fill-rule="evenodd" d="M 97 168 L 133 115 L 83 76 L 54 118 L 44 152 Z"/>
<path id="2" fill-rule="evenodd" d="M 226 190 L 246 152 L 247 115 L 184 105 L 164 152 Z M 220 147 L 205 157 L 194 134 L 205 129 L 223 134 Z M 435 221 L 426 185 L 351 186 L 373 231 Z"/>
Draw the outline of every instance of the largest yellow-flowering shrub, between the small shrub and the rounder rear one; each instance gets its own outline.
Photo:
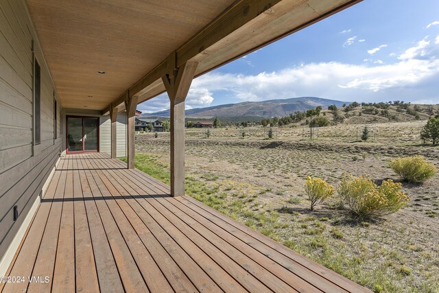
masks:
<path id="1" fill-rule="evenodd" d="M 360 218 L 394 213 L 410 200 L 401 192 L 401 183 L 392 180 L 376 185 L 366 176 L 354 178 L 345 174 L 338 188 L 343 206 Z"/>

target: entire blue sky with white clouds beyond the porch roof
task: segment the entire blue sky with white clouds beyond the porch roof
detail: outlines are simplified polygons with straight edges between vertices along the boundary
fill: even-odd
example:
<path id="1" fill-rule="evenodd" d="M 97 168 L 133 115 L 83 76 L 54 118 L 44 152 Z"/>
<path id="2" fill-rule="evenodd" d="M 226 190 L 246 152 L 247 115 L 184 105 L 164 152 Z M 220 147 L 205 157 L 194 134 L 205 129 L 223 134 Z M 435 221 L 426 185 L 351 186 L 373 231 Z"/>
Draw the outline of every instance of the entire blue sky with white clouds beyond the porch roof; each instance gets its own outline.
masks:
<path id="1" fill-rule="evenodd" d="M 439 1 L 362 1 L 193 80 L 186 107 L 300 96 L 439 104 Z"/>

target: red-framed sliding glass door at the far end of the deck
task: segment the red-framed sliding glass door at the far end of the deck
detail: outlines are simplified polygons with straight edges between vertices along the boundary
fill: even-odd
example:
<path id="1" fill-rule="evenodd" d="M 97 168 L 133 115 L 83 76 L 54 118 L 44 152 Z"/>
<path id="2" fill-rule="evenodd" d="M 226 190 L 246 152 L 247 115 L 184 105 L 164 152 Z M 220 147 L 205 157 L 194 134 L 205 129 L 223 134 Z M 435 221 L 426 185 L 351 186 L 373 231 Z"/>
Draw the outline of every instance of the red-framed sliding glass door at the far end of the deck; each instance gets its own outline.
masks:
<path id="1" fill-rule="evenodd" d="M 99 150 L 99 118 L 67 116 L 67 153 Z"/>

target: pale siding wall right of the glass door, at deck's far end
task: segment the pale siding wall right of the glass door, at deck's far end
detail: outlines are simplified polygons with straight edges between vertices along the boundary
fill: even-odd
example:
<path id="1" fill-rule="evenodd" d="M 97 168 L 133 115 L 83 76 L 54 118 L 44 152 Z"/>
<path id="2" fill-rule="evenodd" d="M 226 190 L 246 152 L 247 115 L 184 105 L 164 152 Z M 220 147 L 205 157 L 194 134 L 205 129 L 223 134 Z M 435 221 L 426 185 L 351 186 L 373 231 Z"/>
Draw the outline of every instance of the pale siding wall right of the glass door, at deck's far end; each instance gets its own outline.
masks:
<path id="1" fill-rule="evenodd" d="M 126 112 L 117 114 L 117 154 L 118 158 L 126 156 Z M 110 115 L 101 116 L 99 119 L 99 135 L 101 140 L 100 152 L 111 154 L 111 120 Z"/>

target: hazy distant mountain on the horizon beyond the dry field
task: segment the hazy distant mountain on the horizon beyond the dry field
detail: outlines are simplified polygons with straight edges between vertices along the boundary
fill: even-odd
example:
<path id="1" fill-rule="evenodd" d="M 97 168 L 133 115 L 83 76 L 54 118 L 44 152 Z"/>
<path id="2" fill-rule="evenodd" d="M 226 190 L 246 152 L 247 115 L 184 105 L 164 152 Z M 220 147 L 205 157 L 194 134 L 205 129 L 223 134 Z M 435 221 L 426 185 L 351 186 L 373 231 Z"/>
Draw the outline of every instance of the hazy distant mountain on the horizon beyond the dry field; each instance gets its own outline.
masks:
<path id="1" fill-rule="evenodd" d="M 206 108 L 195 108 L 186 110 L 187 117 L 283 117 L 294 111 L 304 111 L 316 106 L 328 108 L 330 105 L 342 106 L 345 102 L 333 99 L 322 99 L 320 97 L 293 97 L 291 99 L 270 99 L 263 102 L 242 102 L 237 104 L 225 104 Z M 346 103 L 350 104 L 350 103 Z M 169 117 L 169 110 L 144 113 L 145 116 Z"/>

